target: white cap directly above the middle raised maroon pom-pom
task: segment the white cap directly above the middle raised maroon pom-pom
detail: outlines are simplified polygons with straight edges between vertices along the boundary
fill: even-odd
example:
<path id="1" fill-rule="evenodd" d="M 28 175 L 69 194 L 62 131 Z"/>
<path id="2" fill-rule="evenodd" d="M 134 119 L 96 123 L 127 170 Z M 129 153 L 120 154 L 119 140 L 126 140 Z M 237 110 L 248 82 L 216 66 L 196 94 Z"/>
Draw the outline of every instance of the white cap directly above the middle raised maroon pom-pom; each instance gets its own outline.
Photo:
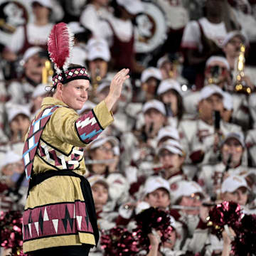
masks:
<path id="1" fill-rule="evenodd" d="M 170 193 L 170 184 L 168 181 L 166 181 L 164 178 L 161 178 L 160 176 L 149 177 L 146 180 L 143 188 L 144 196 L 146 196 L 148 193 L 156 191 L 156 189 L 159 188 L 165 188 L 166 191 Z"/>

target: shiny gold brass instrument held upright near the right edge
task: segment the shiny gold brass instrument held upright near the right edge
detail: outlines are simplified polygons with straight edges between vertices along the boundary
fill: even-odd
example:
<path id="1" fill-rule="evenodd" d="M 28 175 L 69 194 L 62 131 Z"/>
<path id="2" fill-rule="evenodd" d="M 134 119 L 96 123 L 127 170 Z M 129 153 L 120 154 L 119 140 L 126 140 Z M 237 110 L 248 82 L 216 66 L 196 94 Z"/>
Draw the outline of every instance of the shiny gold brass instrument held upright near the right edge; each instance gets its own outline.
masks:
<path id="1" fill-rule="evenodd" d="M 237 61 L 237 75 L 236 75 L 236 82 L 235 82 L 235 92 L 240 92 L 240 93 L 245 93 L 249 95 L 252 92 L 252 89 L 247 86 L 244 78 L 245 76 L 245 45 L 241 43 L 240 45 L 240 53 L 238 56 L 238 61 Z"/>

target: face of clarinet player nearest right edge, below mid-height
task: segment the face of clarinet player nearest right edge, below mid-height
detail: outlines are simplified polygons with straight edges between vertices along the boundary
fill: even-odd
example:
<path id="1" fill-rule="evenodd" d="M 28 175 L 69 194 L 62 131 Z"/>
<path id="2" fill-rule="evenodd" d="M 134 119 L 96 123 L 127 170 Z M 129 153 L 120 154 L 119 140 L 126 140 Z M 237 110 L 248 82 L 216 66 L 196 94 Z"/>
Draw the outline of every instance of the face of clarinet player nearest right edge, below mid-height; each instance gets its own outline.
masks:
<path id="1" fill-rule="evenodd" d="M 231 167 L 238 166 L 238 164 L 240 164 L 240 162 L 242 161 L 243 148 L 237 139 L 228 139 L 223 144 L 221 151 L 223 156 L 223 162 L 225 164 L 228 163 L 228 159 L 231 157 Z"/>

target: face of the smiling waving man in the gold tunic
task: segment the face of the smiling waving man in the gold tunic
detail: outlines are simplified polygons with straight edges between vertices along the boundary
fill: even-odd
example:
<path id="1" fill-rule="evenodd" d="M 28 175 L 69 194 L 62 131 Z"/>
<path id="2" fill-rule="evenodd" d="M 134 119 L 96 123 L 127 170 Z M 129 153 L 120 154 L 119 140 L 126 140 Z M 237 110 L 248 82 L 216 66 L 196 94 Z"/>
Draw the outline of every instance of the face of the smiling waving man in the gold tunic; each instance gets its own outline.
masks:
<path id="1" fill-rule="evenodd" d="M 60 88 L 58 89 L 57 86 L 57 90 L 66 105 L 73 110 L 80 110 L 87 100 L 89 86 L 89 80 L 78 79 L 65 85 L 60 84 Z"/>

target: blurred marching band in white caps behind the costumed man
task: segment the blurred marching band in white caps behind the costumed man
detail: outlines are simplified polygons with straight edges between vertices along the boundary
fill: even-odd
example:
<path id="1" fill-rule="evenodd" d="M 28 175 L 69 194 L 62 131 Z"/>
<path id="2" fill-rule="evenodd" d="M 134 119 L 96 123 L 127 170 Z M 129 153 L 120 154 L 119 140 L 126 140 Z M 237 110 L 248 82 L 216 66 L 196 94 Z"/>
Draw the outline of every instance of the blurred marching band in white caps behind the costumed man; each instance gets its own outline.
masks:
<path id="1" fill-rule="evenodd" d="M 132 229 L 158 207 L 173 232 L 164 245 L 149 235 L 158 252 L 144 255 L 221 255 L 230 240 L 210 233 L 210 207 L 256 212 L 256 1 L 1 0 L 0 13 L 0 210 L 26 202 L 24 137 L 50 91 L 47 38 L 63 21 L 70 63 L 91 78 L 78 114 L 130 70 L 114 123 L 85 150 L 100 230 Z"/>

